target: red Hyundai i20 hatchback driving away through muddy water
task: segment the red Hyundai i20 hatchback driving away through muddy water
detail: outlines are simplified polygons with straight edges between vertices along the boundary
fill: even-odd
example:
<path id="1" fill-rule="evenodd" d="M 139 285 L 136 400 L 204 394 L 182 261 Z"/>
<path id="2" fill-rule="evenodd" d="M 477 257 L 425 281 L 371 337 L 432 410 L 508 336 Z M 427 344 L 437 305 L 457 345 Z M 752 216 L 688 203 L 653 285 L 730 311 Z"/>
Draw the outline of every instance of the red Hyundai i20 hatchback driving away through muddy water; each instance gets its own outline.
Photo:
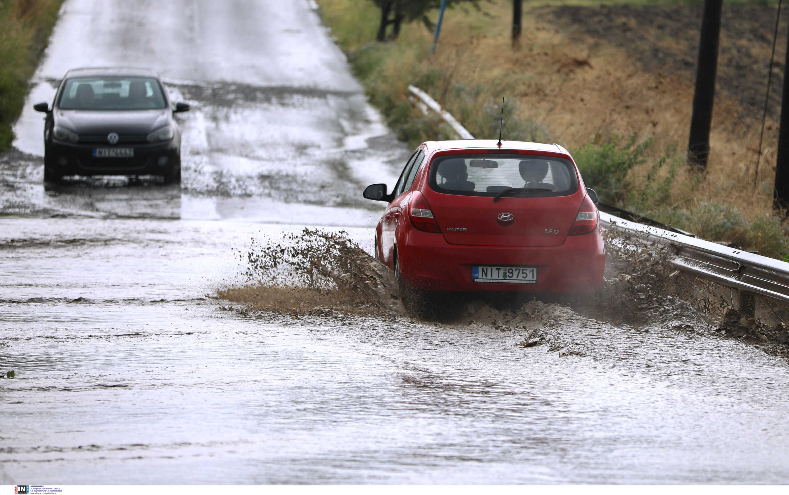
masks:
<path id="1" fill-rule="evenodd" d="M 425 292 L 582 293 L 605 269 L 596 194 L 558 144 L 428 141 L 376 227 L 376 256 Z"/>

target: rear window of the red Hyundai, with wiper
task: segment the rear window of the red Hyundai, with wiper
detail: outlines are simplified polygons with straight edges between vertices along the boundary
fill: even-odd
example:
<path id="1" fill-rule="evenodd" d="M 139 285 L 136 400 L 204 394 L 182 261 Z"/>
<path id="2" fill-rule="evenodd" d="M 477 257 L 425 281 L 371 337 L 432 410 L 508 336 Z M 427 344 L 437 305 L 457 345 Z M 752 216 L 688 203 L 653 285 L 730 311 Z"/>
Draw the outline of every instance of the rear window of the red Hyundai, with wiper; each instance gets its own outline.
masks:
<path id="1" fill-rule="evenodd" d="M 433 160 L 430 187 L 437 192 L 494 196 L 518 188 L 519 196 L 564 196 L 578 191 L 570 160 L 512 154 L 454 154 Z"/>

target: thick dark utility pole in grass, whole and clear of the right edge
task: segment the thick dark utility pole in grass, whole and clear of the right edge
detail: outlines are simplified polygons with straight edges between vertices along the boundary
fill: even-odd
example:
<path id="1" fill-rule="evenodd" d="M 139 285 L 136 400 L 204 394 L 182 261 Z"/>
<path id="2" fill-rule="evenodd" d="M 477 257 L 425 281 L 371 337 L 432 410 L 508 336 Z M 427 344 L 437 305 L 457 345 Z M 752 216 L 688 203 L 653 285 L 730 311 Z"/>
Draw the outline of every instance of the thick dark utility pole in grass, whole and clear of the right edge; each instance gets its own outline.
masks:
<path id="1" fill-rule="evenodd" d="M 709 128 L 712 126 L 712 102 L 715 99 L 722 5 L 723 0 L 705 0 L 704 14 L 701 18 L 696 92 L 693 97 L 693 115 L 690 117 L 688 140 L 688 162 L 700 171 L 707 168 L 707 158 L 709 158 Z"/>

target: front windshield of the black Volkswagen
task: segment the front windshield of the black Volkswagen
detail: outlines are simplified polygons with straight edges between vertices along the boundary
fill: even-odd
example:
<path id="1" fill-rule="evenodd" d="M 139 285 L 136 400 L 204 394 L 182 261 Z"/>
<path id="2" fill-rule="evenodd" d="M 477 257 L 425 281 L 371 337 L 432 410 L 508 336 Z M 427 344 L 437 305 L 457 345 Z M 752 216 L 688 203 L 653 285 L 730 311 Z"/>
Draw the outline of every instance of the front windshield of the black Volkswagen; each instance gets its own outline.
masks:
<path id="1" fill-rule="evenodd" d="M 65 81 L 58 106 L 64 110 L 151 110 L 165 107 L 152 77 L 80 77 Z"/>

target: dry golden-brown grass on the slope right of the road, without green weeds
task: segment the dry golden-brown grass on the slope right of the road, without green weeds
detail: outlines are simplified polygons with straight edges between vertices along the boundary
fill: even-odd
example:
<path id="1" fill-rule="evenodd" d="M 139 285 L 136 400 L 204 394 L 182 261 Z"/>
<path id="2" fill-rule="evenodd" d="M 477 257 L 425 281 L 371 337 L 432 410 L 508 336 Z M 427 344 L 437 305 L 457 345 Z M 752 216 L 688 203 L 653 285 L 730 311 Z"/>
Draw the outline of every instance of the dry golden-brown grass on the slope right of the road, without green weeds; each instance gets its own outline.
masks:
<path id="1" fill-rule="evenodd" d="M 511 4 L 507 0 L 483 2 L 483 13 L 451 9 L 438 50 L 431 56 L 432 33 L 421 24 L 407 25 L 400 39 L 381 45 L 371 42 L 376 28 L 372 2 L 319 3 L 371 102 L 412 144 L 451 135 L 409 105 L 408 84 L 428 91 L 477 137 L 493 137 L 495 125 L 488 121 L 495 112 L 490 108 L 502 96 L 516 104 L 517 120 L 529 123 L 521 130 L 542 125 L 548 131 L 548 142 L 570 150 L 615 135 L 635 134 L 638 142 L 651 137 L 654 144 L 646 161 L 627 177 L 634 190 L 645 187 L 648 175 L 654 181 L 655 173 L 658 178 L 668 173 L 668 166 L 654 169 L 660 157 L 667 157 L 669 163 L 684 159 L 694 94 L 692 74 L 645 70 L 623 48 L 559 27 L 546 7 L 525 13 L 517 48 L 510 46 Z M 653 36 L 664 50 L 676 43 L 658 31 Z M 723 39 L 722 43 L 742 40 Z M 765 50 L 761 46 L 749 49 Z M 692 210 L 705 203 L 724 203 L 739 210 L 746 222 L 763 218 L 772 214 L 777 122 L 768 120 L 765 153 L 754 184 L 753 149 L 761 123 L 742 117 L 746 112 L 739 102 L 721 93 L 716 95 L 707 173 L 694 177 L 681 167 L 664 203 L 654 206 Z M 524 139 L 529 132 L 505 137 Z"/>

